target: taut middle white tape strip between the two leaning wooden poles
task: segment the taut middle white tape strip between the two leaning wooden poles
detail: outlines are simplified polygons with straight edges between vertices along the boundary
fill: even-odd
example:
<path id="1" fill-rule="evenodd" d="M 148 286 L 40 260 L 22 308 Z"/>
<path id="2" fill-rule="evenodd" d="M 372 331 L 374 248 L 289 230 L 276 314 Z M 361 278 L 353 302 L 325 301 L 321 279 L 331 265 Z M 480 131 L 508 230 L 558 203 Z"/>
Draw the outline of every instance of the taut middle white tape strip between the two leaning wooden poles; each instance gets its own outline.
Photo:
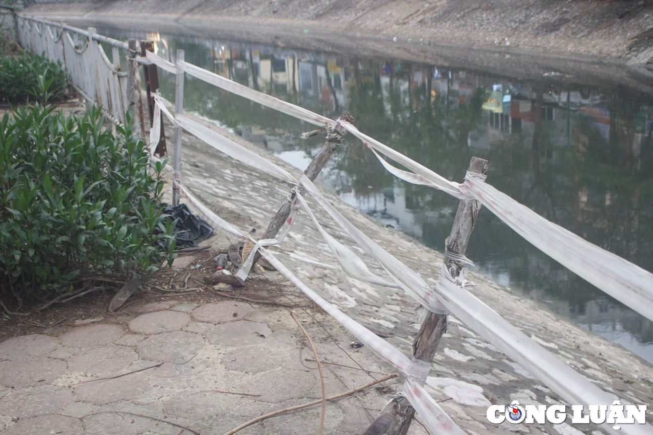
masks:
<path id="1" fill-rule="evenodd" d="M 370 237 L 364 235 L 360 230 L 358 230 L 358 228 L 353 226 L 349 220 L 343 217 L 343 215 L 341 215 L 340 212 L 336 210 L 336 208 L 331 205 L 324 196 L 322 196 L 319 190 L 317 190 L 317 187 L 315 187 L 306 175 L 302 175 L 300 183 L 304 188 L 306 188 L 306 191 L 313 196 L 313 199 L 315 199 L 317 203 L 319 203 L 319 205 L 321 205 L 321 207 L 336 221 L 336 223 L 340 225 L 340 228 L 342 228 L 345 233 L 353 239 L 353 241 L 358 243 L 365 252 L 376 258 L 376 260 L 381 263 L 390 277 L 392 277 L 397 284 L 402 286 L 408 295 L 432 312 L 441 314 L 448 312 L 447 308 L 438 300 L 436 293 L 428 288 L 426 282 L 417 275 L 417 273 L 413 272 L 409 267 L 404 265 L 404 263 L 394 258 L 394 256 L 389 254 L 385 249 L 379 247 L 379 245 L 370 239 Z"/>

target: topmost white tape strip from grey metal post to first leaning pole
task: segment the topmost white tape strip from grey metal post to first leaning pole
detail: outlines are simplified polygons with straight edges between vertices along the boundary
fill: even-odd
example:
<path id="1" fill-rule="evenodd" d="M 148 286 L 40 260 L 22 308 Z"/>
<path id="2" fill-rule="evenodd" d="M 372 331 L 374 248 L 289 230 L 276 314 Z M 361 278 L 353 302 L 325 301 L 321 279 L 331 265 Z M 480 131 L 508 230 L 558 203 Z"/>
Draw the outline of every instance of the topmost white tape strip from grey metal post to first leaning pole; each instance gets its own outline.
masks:
<path id="1" fill-rule="evenodd" d="M 321 127 L 324 127 L 325 125 L 333 127 L 336 125 L 334 121 L 328 119 L 327 117 L 313 113 L 310 110 L 300 108 L 299 106 L 295 106 L 295 104 L 281 101 L 278 98 L 270 97 L 270 95 L 255 91 L 254 89 L 250 89 L 249 87 L 241 85 L 240 83 L 232 82 L 227 78 L 214 74 L 213 72 L 207 71 L 205 69 L 196 67 L 191 63 L 185 63 L 182 61 L 178 65 L 183 71 L 191 74 L 191 76 L 199 78 L 200 80 L 204 80 L 204 82 L 211 83 L 212 85 L 215 85 L 221 89 L 225 89 L 225 91 L 229 91 L 236 95 L 240 95 L 241 97 L 248 98 L 249 100 L 263 104 L 263 106 L 268 106 L 269 108 L 273 108 L 279 112 L 286 113 L 287 115 L 291 115 L 297 119 L 302 119 L 302 121 L 306 121 L 314 125 L 319 125 Z"/>

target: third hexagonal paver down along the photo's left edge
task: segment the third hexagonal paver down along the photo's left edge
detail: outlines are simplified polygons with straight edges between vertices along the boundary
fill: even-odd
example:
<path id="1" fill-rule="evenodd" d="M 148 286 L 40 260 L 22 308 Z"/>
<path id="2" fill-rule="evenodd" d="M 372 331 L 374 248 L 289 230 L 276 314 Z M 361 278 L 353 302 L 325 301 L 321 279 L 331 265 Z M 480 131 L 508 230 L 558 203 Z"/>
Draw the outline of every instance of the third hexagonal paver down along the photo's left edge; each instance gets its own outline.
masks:
<path id="1" fill-rule="evenodd" d="M 69 389 L 42 385 L 6 395 L 0 399 L 0 410 L 12 418 L 25 419 L 56 414 L 74 401 Z"/>

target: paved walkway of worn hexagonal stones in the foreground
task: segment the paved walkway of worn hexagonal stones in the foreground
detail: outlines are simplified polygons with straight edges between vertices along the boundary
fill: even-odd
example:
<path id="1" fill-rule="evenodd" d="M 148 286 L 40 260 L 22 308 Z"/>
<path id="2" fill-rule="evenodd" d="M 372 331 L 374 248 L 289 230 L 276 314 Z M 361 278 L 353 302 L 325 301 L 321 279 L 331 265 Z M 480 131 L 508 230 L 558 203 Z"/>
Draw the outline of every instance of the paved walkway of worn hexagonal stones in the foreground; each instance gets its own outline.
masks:
<path id="1" fill-rule="evenodd" d="M 313 319 L 297 315 L 326 361 L 356 365 Z M 351 349 L 352 337 L 330 318 L 315 316 L 360 365 L 389 372 L 366 348 Z M 315 363 L 303 361 L 313 358 L 303 339 L 288 310 L 232 301 L 152 303 L 97 323 L 11 338 L 0 343 L 0 434 L 191 433 L 159 419 L 221 435 L 263 413 L 321 398 L 319 374 L 309 368 Z M 373 380 L 352 368 L 323 370 L 327 396 Z M 396 389 L 397 382 L 383 385 Z M 375 387 L 329 402 L 325 433 L 360 434 L 390 398 Z M 317 433 L 320 415 L 313 406 L 239 433 Z"/>

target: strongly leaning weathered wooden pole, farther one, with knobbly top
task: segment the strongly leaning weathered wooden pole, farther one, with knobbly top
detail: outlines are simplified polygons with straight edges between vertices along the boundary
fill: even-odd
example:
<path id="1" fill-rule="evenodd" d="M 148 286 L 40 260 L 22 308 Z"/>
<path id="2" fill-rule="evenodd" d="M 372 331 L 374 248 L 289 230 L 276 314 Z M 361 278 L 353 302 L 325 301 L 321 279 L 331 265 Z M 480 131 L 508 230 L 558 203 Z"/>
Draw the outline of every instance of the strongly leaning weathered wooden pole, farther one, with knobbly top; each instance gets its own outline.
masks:
<path id="1" fill-rule="evenodd" d="M 345 134 L 347 134 L 347 130 L 345 130 L 342 127 L 338 128 L 339 125 L 338 121 L 347 121 L 348 123 L 351 124 L 354 122 L 354 117 L 351 115 L 351 113 L 344 112 L 342 115 L 340 115 L 340 118 L 336 120 L 336 127 L 330 128 L 328 130 L 327 140 L 322 145 L 320 151 L 317 152 L 317 155 L 313 158 L 313 160 L 311 160 L 310 164 L 304 171 L 304 175 L 306 175 L 306 177 L 308 177 L 311 181 L 314 181 L 315 178 L 317 178 L 317 174 L 319 174 L 322 168 L 325 167 L 325 164 L 327 164 L 328 159 L 331 157 L 334 151 L 338 149 L 338 145 L 342 143 Z M 281 226 L 283 226 L 283 224 L 289 217 L 291 212 L 291 206 L 293 205 L 294 201 L 295 201 L 295 192 L 291 192 L 291 194 L 289 194 L 289 196 L 287 196 L 287 198 L 283 200 L 283 203 L 281 204 L 281 208 L 279 208 L 277 214 L 274 215 L 274 218 L 272 218 L 272 221 L 270 222 L 268 229 L 264 233 L 263 237 L 261 237 L 261 239 L 274 239 L 274 237 L 276 237 L 276 235 L 279 233 L 279 230 L 281 230 Z M 259 254 L 259 252 L 257 251 L 254 257 L 254 262 L 257 262 L 259 258 L 261 258 L 261 254 Z"/>

